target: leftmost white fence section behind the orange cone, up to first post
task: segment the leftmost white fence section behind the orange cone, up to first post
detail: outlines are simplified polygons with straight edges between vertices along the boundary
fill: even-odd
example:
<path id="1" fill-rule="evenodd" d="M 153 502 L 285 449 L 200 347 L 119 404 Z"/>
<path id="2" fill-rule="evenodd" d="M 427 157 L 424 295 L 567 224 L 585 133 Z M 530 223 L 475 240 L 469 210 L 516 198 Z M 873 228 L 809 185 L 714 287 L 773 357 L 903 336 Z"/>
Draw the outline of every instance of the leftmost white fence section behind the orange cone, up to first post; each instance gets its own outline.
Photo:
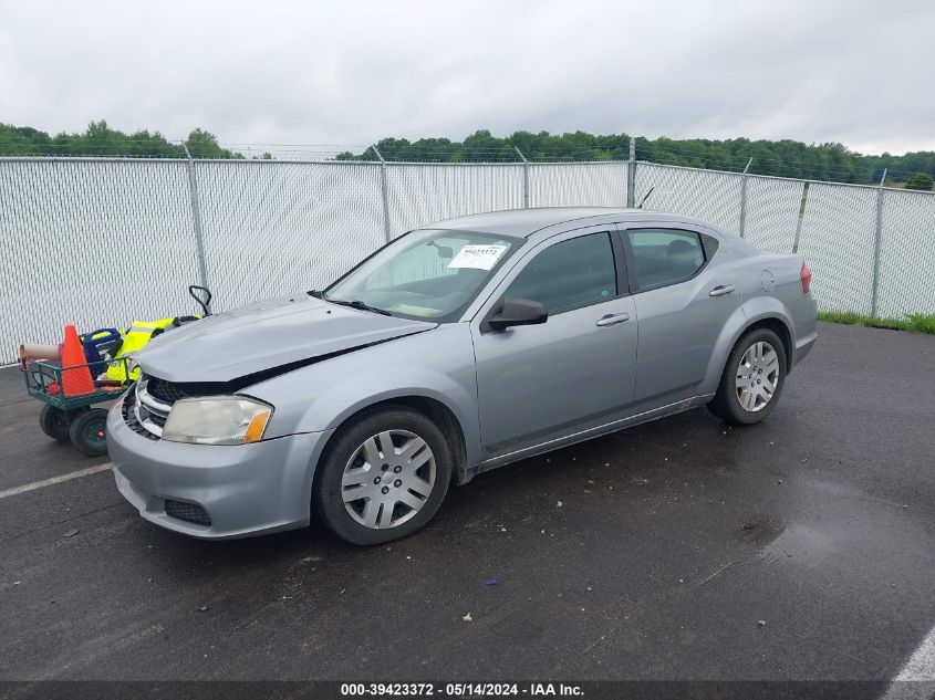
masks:
<path id="1" fill-rule="evenodd" d="M 61 342 L 65 323 L 188 312 L 193 230 L 184 161 L 0 163 L 0 363 L 22 342 Z"/>

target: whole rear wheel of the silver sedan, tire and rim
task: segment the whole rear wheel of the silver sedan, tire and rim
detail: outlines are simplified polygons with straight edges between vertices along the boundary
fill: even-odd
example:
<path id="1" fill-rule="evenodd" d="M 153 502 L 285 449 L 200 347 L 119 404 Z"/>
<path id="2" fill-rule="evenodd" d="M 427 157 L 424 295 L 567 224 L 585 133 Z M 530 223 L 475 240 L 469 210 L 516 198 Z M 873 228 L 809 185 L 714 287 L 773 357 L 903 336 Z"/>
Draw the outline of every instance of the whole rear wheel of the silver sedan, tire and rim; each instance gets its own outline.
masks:
<path id="1" fill-rule="evenodd" d="M 708 409 L 735 425 L 761 421 L 776 407 L 786 383 L 786 347 L 769 328 L 741 337 L 724 368 Z"/>

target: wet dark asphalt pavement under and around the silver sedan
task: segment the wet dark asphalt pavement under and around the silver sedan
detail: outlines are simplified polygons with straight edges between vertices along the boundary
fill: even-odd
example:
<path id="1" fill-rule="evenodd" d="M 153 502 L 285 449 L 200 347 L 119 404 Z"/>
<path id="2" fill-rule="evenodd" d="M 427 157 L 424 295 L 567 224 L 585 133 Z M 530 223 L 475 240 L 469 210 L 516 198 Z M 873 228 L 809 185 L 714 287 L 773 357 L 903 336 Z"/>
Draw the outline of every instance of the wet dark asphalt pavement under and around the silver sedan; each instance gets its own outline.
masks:
<path id="1" fill-rule="evenodd" d="M 0 680 L 895 678 L 935 625 L 935 336 L 822 324 L 706 410 L 453 488 L 357 548 L 143 521 L 0 372 Z"/>

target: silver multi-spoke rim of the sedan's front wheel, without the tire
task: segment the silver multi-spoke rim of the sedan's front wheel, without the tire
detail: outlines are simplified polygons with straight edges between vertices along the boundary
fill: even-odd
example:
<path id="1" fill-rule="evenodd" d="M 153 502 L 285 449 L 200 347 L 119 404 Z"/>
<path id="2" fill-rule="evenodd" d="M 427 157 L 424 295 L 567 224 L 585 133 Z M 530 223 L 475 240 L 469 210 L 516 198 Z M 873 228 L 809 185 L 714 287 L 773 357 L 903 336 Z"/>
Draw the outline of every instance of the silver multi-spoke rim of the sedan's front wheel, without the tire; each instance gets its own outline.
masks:
<path id="1" fill-rule="evenodd" d="M 435 456 L 408 430 L 384 430 L 354 450 L 341 480 L 344 508 L 356 522 L 386 530 L 411 520 L 435 488 Z"/>

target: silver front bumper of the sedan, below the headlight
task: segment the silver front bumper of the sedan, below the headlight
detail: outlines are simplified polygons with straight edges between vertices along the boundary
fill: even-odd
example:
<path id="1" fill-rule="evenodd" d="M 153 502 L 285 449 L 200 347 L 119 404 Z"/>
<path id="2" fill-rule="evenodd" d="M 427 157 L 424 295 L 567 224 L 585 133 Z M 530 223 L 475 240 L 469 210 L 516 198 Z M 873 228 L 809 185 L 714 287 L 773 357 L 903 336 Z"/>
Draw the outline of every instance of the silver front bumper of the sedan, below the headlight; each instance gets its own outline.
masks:
<path id="1" fill-rule="evenodd" d="M 252 445 L 185 445 L 134 432 L 120 404 L 107 417 L 117 489 L 146 520 L 194 537 L 220 540 L 309 524 L 312 479 L 330 432 Z M 201 506 L 210 524 L 166 513 L 166 501 Z"/>

